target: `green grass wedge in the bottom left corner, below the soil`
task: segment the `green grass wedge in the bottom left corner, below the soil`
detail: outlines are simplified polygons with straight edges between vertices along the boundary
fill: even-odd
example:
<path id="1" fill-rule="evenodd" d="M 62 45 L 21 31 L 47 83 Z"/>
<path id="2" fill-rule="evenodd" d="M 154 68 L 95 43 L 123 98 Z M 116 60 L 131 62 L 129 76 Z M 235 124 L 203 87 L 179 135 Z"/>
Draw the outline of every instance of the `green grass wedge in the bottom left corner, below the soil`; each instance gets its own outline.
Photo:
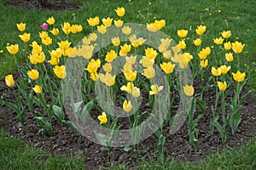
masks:
<path id="1" fill-rule="evenodd" d="M 0 131 L 0 169 L 84 169 L 78 157 L 50 156 Z"/>

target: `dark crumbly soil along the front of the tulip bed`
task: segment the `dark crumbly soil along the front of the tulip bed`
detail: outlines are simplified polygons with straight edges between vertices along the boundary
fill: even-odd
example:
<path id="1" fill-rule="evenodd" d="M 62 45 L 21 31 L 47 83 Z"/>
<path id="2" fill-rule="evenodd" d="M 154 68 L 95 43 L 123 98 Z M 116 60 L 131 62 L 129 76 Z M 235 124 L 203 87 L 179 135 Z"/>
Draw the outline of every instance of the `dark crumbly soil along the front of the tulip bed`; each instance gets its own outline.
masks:
<path id="1" fill-rule="evenodd" d="M 196 84 L 194 84 L 196 85 Z M 198 86 L 199 87 L 199 86 Z M 195 89 L 199 90 L 198 87 Z M 7 94 L 7 88 L 4 82 L 0 82 L 0 97 Z M 243 91 L 245 93 L 245 90 Z M 167 123 L 164 127 L 164 135 L 166 136 L 166 144 L 164 154 L 167 157 L 173 157 L 181 161 L 197 162 L 205 158 L 212 152 L 221 151 L 225 147 L 238 148 L 245 144 L 249 139 L 256 135 L 256 102 L 252 95 L 245 100 L 241 109 L 241 124 L 234 135 L 228 128 L 228 141 L 223 144 L 218 132 L 210 133 L 209 122 L 212 117 L 210 106 L 214 105 L 214 90 L 209 90 L 205 94 L 207 101 L 207 112 L 201 118 L 199 128 L 199 150 L 195 151 L 193 146 L 189 144 L 188 130 L 183 124 L 177 133 L 170 135 L 167 129 Z M 9 101 L 15 102 L 14 93 L 9 94 Z M 174 108 L 176 106 L 174 105 Z M 40 129 L 34 121 L 33 115 L 27 113 L 25 126 L 21 127 L 16 121 L 16 114 L 7 106 L 1 105 L 0 110 L 0 128 L 3 128 L 11 137 L 21 137 L 24 141 L 38 148 L 48 150 L 52 155 L 78 155 L 84 159 L 86 167 L 97 168 L 98 166 L 111 167 L 116 164 L 124 164 L 127 167 L 136 167 L 141 164 L 142 158 L 157 159 L 159 156 L 156 144 L 158 139 L 152 135 L 142 143 L 138 144 L 137 152 L 127 152 L 123 148 L 113 148 L 108 150 L 100 145 L 94 144 L 89 139 L 79 136 L 71 127 L 61 126 L 58 122 L 52 122 L 54 133 L 49 136 L 47 133 L 38 133 Z M 98 113 L 96 113 L 98 115 Z M 221 114 L 219 114 L 221 115 Z"/>

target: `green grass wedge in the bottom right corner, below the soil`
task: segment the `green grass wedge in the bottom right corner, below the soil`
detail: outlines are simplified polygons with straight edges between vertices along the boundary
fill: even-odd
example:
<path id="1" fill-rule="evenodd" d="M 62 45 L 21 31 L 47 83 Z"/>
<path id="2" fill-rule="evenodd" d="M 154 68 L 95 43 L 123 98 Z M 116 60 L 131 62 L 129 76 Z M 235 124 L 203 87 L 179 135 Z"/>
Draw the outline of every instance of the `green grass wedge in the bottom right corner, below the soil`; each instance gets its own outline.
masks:
<path id="1" fill-rule="evenodd" d="M 255 169 L 255 150 L 256 141 L 254 139 L 240 150 L 225 149 L 223 153 L 214 153 L 197 164 L 159 158 L 157 161 L 145 161 L 138 169 Z"/>

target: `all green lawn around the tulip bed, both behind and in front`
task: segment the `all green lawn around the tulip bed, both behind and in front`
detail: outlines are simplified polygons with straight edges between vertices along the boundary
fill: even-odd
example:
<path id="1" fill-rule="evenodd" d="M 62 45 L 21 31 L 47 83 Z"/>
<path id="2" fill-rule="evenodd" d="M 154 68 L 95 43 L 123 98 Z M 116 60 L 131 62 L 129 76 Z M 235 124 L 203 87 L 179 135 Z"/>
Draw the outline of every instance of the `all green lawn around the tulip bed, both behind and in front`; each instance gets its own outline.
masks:
<path id="1" fill-rule="evenodd" d="M 50 16 L 55 17 L 55 26 L 61 27 L 65 21 L 79 23 L 83 31 L 79 36 L 72 35 L 73 42 L 78 43 L 82 37 L 91 31 L 87 23 L 90 17 L 106 16 L 115 18 L 113 12 L 117 7 L 125 8 L 125 22 L 146 25 L 154 20 L 166 20 L 166 26 L 161 30 L 173 39 L 179 40 L 177 30 L 189 31 L 187 39 L 195 39 L 196 26 L 207 26 L 204 34 L 203 46 L 211 46 L 213 38 L 220 37 L 220 32 L 230 30 L 230 41 L 239 41 L 245 44 L 240 57 L 241 71 L 247 73 L 247 89 L 256 88 L 256 2 L 254 0 L 230 1 L 190 1 L 190 0 L 113 0 L 113 1 L 83 1 L 82 8 L 73 11 L 45 11 L 38 8 L 24 10 L 22 8 L 6 5 L 7 0 L 1 1 L 0 21 L 3 24 L 0 31 L 0 80 L 10 73 L 17 71 L 15 57 L 18 65 L 26 63 L 25 53 L 10 56 L 6 50 L 7 43 L 19 42 L 16 24 L 26 23 L 26 31 L 31 32 L 31 38 L 38 42 L 38 32 L 42 30 L 42 23 Z M 28 45 L 20 45 L 20 51 L 28 50 Z M 193 48 L 188 46 L 188 51 Z M 212 50 L 214 51 L 214 49 Z M 194 56 L 196 57 L 196 56 Z M 19 66 L 18 66 L 19 67 Z M 253 92 L 255 96 L 255 91 Z M 3 114 L 3 111 L 0 111 Z M 63 157 L 50 156 L 45 150 L 34 149 L 30 144 L 24 144 L 20 139 L 10 138 L 3 131 L 0 133 L 0 164 L 2 169 L 83 169 L 83 158 L 78 156 Z M 143 160 L 138 169 L 253 169 L 256 168 L 255 138 L 241 146 L 240 150 L 226 148 L 222 153 L 213 153 L 194 165 L 191 162 L 179 162 L 172 158 L 159 158 L 157 161 Z M 86 165 L 85 165 L 86 166 Z M 104 167 L 99 167 L 104 169 Z M 124 169 L 125 166 L 114 165 L 115 169 Z"/>

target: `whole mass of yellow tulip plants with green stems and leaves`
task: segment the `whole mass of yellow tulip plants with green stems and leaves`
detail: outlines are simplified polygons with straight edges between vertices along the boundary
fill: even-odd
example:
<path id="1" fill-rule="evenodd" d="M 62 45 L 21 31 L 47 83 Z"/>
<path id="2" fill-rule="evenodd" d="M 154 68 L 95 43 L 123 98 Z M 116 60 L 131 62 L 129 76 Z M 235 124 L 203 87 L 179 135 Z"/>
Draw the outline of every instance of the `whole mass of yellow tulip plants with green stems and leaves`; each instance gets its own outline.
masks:
<path id="1" fill-rule="evenodd" d="M 84 23 L 71 25 L 65 21 L 59 28 L 55 25 L 58 20 L 51 16 L 39 33 L 25 32 L 29 23 L 17 24 L 17 42 L 8 45 L 6 53 L 14 57 L 25 53 L 26 66 L 17 64 L 20 77 L 5 77 L 9 90 L 16 87 L 18 94 L 16 104 L 7 99 L 3 103 L 14 109 L 18 121 L 24 124 L 30 112 L 42 127 L 40 131 L 52 134 L 51 122 L 55 119 L 83 134 L 88 116 L 96 114 L 94 121 L 108 129 L 106 133 L 96 133 L 96 137 L 101 144 L 112 146 L 113 139 L 118 138 L 117 131 L 123 127 L 121 117 L 125 117 L 131 129 L 131 144 L 136 146 L 142 140 L 147 124 L 159 138 L 157 148 L 162 154 L 166 142 L 164 122 L 170 124 L 172 134 L 178 127 L 177 120 L 181 120 L 189 129 L 189 142 L 197 149 L 197 124 L 207 111 L 205 94 L 213 89 L 216 95 L 215 105 L 210 105 L 211 133 L 216 129 L 224 142 L 228 139 L 228 126 L 235 133 L 247 95 L 240 95 L 246 82 L 246 73 L 239 64 L 244 44 L 232 42 L 231 31 L 222 31 L 221 37 L 212 39 L 212 46 L 206 46 L 203 38 L 207 26 L 197 26 L 195 31 L 182 28 L 177 31 L 179 39 L 173 40 L 172 35 L 160 33 L 165 20 L 144 23 L 144 30 L 138 31 L 123 20 L 125 8 L 116 8 L 115 12 L 116 19 L 92 16 Z M 92 32 L 85 34 L 84 26 L 91 27 Z M 35 34 L 37 40 L 31 38 Z M 72 34 L 81 42 L 76 44 Z M 24 43 L 26 51 L 19 49 Z M 192 72 L 191 77 L 188 71 Z M 198 90 L 192 78 L 200 82 Z M 234 88 L 236 93 L 230 94 L 228 101 L 227 91 Z M 172 116 L 175 99 L 183 105 Z M 74 120 L 67 118 L 70 114 Z"/>

